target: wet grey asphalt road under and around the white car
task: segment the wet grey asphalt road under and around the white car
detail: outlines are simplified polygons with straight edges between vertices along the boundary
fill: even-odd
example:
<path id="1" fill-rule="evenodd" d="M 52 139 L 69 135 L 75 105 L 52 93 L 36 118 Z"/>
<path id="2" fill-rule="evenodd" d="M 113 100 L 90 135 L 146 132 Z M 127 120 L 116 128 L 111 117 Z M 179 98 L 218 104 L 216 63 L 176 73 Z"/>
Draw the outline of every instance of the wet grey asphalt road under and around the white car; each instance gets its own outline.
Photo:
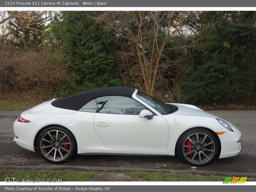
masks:
<path id="1" fill-rule="evenodd" d="M 21 111 L 0 111 L 0 168 L 141 170 L 256 177 L 256 111 L 208 112 L 227 119 L 239 128 L 243 134 L 242 150 L 235 157 L 216 159 L 205 166 L 190 170 L 191 166 L 182 162 L 178 156 L 78 155 L 64 164 L 52 164 L 45 161 L 39 153 L 23 149 L 13 142 L 12 124 Z M 161 167 L 156 169 L 156 165 Z"/>

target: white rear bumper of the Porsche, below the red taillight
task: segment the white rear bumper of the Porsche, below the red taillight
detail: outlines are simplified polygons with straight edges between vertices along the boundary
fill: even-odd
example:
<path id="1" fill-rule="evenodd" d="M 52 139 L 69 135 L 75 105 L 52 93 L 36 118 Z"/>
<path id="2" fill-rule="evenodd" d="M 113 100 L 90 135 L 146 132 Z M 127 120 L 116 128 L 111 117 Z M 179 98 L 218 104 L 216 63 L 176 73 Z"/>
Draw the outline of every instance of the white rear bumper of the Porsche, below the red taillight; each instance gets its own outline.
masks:
<path id="1" fill-rule="evenodd" d="M 13 123 L 13 131 L 14 135 L 19 139 L 14 137 L 13 141 L 20 147 L 35 152 L 34 139 L 36 137 L 36 133 L 41 129 L 41 126 L 41 124 L 34 122 L 20 123 L 16 119 Z"/>

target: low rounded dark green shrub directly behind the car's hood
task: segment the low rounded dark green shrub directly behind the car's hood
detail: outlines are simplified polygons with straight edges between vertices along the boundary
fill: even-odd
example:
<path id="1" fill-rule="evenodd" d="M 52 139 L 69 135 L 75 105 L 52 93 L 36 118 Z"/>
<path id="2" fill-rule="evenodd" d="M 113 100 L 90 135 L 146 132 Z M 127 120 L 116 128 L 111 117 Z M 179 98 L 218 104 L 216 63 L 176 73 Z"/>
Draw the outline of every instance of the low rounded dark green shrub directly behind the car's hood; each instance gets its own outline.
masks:
<path id="1" fill-rule="evenodd" d="M 224 64 L 205 63 L 196 68 L 185 68 L 181 80 L 183 94 L 190 104 L 225 103 L 234 100 L 237 68 Z"/>

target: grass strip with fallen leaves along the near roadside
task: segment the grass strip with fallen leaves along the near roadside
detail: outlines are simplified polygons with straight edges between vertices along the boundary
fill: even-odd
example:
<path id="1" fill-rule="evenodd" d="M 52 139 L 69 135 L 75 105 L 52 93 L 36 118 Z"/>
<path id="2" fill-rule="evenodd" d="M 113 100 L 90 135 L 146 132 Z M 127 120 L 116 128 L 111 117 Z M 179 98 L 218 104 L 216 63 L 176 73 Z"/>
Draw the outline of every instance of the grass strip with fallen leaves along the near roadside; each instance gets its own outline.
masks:
<path id="1" fill-rule="evenodd" d="M 16 179 L 59 179 L 62 181 L 90 181 L 106 172 L 77 171 L 77 170 L 24 170 L 24 169 L 0 169 L 0 181 L 5 178 L 15 177 Z M 143 181 L 223 181 L 226 176 L 199 175 L 192 173 L 169 173 L 169 172 L 116 172 L 128 174 Z M 230 175 L 227 175 L 230 176 Z M 246 175 L 244 175 L 246 177 Z M 246 181 L 256 181 L 256 178 L 248 178 Z"/>

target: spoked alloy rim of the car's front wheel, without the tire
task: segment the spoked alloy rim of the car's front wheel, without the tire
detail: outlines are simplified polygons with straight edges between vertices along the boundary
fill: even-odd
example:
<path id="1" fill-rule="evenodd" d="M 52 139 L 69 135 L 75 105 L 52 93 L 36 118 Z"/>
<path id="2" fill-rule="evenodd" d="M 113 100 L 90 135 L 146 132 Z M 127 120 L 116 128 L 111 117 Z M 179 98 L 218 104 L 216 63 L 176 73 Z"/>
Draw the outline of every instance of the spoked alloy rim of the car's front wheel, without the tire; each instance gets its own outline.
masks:
<path id="1" fill-rule="evenodd" d="M 208 134 L 193 133 L 184 140 L 182 151 L 189 162 L 198 165 L 205 164 L 214 157 L 215 143 Z"/>

